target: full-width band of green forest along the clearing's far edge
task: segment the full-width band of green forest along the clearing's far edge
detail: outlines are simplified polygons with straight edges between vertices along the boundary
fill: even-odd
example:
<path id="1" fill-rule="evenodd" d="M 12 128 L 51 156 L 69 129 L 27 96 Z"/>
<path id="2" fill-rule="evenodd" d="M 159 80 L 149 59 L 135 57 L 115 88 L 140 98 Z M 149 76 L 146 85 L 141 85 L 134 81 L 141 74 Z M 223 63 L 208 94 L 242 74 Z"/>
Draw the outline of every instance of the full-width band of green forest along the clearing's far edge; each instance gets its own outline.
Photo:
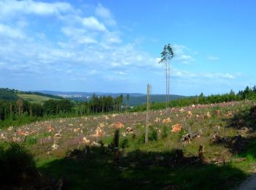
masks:
<path id="1" fill-rule="evenodd" d="M 4 90 L 3 90 L 4 89 Z M 20 99 L 17 90 L 1 88 L 0 96 L 0 127 L 18 126 L 23 123 L 39 121 L 45 118 L 58 118 L 78 115 L 91 115 L 95 113 L 110 113 L 121 111 L 143 111 L 146 105 L 138 105 L 133 108 L 122 106 L 123 95 L 97 96 L 94 94 L 89 102 L 71 102 L 68 99 L 49 99 L 43 104 L 31 103 Z M 192 96 L 185 99 L 170 101 L 170 107 L 183 107 L 191 104 L 211 104 L 219 102 L 240 101 L 243 99 L 256 99 L 256 87 L 244 91 L 230 91 L 227 94 L 204 96 Z M 152 110 L 165 108 L 165 102 L 151 103 Z"/>

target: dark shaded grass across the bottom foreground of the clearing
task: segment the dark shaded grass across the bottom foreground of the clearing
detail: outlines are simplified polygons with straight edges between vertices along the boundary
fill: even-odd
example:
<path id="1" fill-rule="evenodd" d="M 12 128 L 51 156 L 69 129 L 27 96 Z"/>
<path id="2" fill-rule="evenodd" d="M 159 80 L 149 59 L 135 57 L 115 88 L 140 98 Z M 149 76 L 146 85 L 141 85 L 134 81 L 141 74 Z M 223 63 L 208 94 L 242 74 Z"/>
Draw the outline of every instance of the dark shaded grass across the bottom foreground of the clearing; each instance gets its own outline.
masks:
<path id="1" fill-rule="evenodd" d="M 115 163 L 113 155 L 94 148 L 86 159 L 56 159 L 39 170 L 52 178 L 65 177 L 67 189 L 230 189 L 246 178 L 246 172 L 233 164 L 155 164 L 156 156 L 170 159 L 169 152 L 130 151 L 126 159 Z M 131 164 L 132 162 L 137 162 Z M 164 162 L 164 161 L 163 161 Z M 124 168 L 124 170 L 120 170 Z"/>

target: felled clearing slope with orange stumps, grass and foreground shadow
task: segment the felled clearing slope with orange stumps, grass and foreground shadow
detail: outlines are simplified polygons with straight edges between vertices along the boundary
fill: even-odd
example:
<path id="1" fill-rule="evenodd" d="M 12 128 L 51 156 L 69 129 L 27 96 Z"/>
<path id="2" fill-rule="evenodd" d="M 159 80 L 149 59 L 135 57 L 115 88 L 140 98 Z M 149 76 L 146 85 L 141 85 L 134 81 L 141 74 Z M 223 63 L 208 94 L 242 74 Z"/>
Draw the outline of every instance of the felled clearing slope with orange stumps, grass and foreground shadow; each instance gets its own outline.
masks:
<path id="1" fill-rule="evenodd" d="M 34 186 L 230 189 L 255 170 L 256 109 L 251 107 L 253 102 L 244 101 L 151 111 L 147 144 L 144 112 L 10 127 L 1 130 L 0 141 L 4 150 L 8 150 L 8 142 L 21 143 L 34 156 L 34 167 L 42 175 L 38 177 L 41 183 Z M 173 132 L 176 124 L 181 130 Z M 120 130 L 118 159 L 113 148 L 116 128 Z M 200 136 L 191 142 L 181 142 L 184 134 L 200 130 Z M 200 145 L 204 145 L 203 158 L 198 153 Z M 27 179 L 29 182 L 24 181 L 30 183 Z"/>

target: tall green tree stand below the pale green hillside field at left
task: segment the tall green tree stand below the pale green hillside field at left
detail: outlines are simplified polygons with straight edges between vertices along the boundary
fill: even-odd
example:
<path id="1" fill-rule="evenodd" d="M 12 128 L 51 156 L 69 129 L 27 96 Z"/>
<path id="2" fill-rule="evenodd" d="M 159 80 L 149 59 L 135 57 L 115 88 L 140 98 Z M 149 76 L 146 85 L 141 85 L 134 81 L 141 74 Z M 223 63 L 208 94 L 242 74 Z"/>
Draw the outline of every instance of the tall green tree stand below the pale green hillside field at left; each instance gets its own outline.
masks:
<path id="1" fill-rule="evenodd" d="M 16 101 L 0 100 L 0 126 L 19 125 L 42 118 L 89 115 L 92 113 L 120 112 L 123 95 L 97 96 L 89 102 L 71 102 L 68 99 L 49 99 L 43 104 L 31 103 L 21 98 Z"/>

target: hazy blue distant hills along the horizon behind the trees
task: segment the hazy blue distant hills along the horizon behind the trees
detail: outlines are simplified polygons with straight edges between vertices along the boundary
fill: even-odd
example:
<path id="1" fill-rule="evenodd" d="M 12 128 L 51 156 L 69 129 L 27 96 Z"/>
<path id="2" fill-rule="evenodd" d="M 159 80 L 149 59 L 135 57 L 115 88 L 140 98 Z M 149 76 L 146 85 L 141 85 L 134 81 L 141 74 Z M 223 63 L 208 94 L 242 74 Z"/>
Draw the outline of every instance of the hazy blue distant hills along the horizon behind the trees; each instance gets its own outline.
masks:
<path id="1" fill-rule="evenodd" d="M 124 95 L 124 101 L 123 104 L 127 104 L 127 93 L 105 93 L 105 92 L 69 92 L 69 91 L 37 91 L 39 93 L 44 94 L 52 94 L 56 96 L 62 96 L 64 98 L 84 102 L 89 101 L 91 99 L 91 96 L 93 94 L 97 94 L 97 96 L 113 96 L 114 98 L 117 96 L 120 96 L 121 94 Z M 188 96 L 179 96 L 179 95 L 170 95 L 170 100 L 175 99 L 183 99 L 187 98 Z M 151 102 L 165 102 L 165 94 L 152 94 L 151 95 Z M 140 94 L 140 93 L 129 93 L 129 106 L 135 106 L 140 104 L 146 103 L 146 94 Z"/>

